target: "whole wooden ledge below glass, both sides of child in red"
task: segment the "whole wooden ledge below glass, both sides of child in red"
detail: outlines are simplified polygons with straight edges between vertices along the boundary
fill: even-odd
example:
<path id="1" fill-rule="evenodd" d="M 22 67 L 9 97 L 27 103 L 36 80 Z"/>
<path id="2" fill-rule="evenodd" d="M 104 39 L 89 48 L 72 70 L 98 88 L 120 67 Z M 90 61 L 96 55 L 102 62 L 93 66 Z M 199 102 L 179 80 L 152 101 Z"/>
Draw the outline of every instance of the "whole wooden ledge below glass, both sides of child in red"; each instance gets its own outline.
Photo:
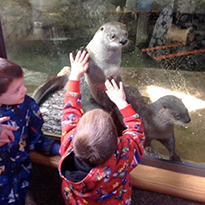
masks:
<path id="1" fill-rule="evenodd" d="M 37 152 L 31 152 L 30 157 L 32 162 L 52 168 L 58 167 L 58 161 L 60 159 L 60 156 L 48 157 Z M 173 167 L 176 167 L 175 171 L 147 166 L 144 164 L 146 161 L 143 161 L 131 172 L 134 187 L 205 203 L 205 177 L 200 176 L 203 173 L 193 175 L 189 173 L 190 171 L 182 172 L 180 170 L 183 168 L 184 170 L 188 169 L 192 171 L 195 168 L 184 165 L 182 167 L 181 165 L 172 163 L 168 164 L 159 160 L 157 162 L 161 163 L 162 167 L 173 165 Z"/>

